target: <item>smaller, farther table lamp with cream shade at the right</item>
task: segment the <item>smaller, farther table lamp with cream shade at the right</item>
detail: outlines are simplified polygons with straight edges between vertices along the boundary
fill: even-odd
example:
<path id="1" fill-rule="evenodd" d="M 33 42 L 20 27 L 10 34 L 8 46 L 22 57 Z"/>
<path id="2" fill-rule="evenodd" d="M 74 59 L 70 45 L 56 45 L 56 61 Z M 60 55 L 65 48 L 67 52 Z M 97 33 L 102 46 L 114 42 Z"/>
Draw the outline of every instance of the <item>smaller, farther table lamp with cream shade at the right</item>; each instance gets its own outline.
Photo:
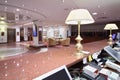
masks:
<path id="1" fill-rule="evenodd" d="M 104 27 L 104 30 L 110 30 L 110 35 L 109 35 L 109 41 L 108 44 L 111 46 L 113 44 L 113 40 L 112 40 L 112 30 L 117 30 L 118 27 L 116 24 L 110 23 L 110 24 L 106 24 L 106 26 Z"/>

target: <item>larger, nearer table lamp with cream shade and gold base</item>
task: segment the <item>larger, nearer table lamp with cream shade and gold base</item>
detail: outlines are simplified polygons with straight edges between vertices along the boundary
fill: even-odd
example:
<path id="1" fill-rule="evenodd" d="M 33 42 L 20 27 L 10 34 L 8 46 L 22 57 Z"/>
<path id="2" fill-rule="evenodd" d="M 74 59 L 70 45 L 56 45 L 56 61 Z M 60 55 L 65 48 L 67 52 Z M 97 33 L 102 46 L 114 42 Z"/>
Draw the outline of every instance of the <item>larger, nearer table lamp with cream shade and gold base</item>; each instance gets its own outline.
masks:
<path id="1" fill-rule="evenodd" d="M 83 54 L 83 46 L 81 44 L 82 37 L 80 36 L 80 24 L 94 23 L 94 19 L 86 9 L 74 9 L 72 10 L 65 21 L 69 25 L 78 25 L 78 36 L 75 38 L 76 44 L 76 55 Z"/>

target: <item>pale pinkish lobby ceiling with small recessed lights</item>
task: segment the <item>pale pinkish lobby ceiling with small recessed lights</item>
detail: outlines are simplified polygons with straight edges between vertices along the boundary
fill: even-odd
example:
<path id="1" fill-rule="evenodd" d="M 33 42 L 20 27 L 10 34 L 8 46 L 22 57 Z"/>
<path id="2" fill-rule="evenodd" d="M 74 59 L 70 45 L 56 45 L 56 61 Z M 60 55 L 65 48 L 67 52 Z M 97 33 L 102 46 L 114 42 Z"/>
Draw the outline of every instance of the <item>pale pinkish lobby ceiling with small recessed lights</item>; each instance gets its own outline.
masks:
<path id="1" fill-rule="evenodd" d="M 0 0 L 1 15 L 9 12 L 13 17 L 22 16 L 18 21 L 8 21 L 14 25 L 31 21 L 39 25 L 65 25 L 69 12 L 78 8 L 88 9 L 95 23 L 120 21 L 119 7 L 120 0 Z"/>

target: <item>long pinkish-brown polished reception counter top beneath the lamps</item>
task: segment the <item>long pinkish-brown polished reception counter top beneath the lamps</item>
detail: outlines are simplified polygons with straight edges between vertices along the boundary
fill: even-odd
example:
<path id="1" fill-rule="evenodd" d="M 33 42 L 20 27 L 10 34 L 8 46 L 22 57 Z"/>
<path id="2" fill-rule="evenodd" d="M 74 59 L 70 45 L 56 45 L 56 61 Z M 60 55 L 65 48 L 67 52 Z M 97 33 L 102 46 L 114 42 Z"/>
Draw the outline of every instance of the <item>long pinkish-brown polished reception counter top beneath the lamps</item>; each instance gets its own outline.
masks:
<path id="1" fill-rule="evenodd" d="M 84 43 L 83 50 L 93 54 L 107 45 L 107 40 Z M 32 80 L 62 65 L 70 67 L 84 57 L 75 56 L 75 44 L 48 47 L 48 51 L 29 50 L 25 54 L 0 61 L 0 80 Z"/>

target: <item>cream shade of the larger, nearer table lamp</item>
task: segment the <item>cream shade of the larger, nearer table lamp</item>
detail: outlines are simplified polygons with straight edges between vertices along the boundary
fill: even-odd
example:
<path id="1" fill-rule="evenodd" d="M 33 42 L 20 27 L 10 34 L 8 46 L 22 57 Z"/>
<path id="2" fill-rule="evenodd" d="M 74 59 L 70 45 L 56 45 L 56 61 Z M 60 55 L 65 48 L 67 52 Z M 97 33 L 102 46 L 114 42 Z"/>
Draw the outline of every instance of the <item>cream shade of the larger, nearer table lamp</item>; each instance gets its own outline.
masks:
<path id="1" fill-rule="evenodd" d="M 80 24 L 90 24 L 94 23 L 94 19 L 86 9 L 75 9 L 72 10 L 65 23 L 66 24 L 78 24 L 78 21 L 80 21 Z"/>

